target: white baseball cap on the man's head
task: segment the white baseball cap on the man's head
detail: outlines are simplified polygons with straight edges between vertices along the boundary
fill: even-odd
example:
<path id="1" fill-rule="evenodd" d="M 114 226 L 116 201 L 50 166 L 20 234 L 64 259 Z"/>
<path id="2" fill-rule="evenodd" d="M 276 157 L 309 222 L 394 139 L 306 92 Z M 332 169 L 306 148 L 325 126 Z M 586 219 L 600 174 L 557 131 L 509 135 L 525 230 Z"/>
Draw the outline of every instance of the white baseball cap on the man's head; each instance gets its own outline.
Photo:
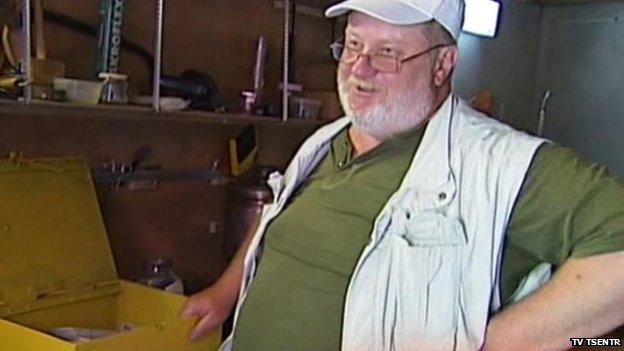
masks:
<path id="1" fill-rule="evenodd" d="M 336 17 L 349 11 L 396 25 L 434 20 L 457 41 L 464 21 L 464 0 L 346 0 L 328 8 L 325 16 Z"/>

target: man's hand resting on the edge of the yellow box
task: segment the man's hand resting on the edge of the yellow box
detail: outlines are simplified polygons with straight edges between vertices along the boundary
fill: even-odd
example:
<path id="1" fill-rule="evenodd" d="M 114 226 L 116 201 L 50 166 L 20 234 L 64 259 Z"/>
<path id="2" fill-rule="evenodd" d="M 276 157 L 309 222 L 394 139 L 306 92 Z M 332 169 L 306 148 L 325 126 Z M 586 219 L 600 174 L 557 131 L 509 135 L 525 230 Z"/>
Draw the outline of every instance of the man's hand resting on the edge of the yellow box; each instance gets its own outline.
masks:
<path id="1" fill-rule="evenodd" d="M 230 314 L 236 297 L 221 291 L 218 284 L 210 286 L 192 295 L 184 308 L 182 316 L 197 316 L 199 321 L 191 330 L 189 339 L 199 340 L 209 331 L 221 325 Z"/>

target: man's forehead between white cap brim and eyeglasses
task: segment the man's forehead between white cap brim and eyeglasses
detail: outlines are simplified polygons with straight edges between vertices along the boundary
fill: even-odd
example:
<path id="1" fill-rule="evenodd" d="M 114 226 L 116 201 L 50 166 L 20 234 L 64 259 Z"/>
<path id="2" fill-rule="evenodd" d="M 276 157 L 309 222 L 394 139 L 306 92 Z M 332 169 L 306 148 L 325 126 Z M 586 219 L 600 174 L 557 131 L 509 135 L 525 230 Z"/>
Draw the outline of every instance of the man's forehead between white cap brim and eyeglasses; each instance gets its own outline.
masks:
<path id="1" fill-rule="evenodd" d="M 347 20 L 346 34 L 366 35 L 370 39 L 386 39 L 407 42 L 426 40 L 425 24 L 395 25 L 380 19 L 353 11 Z"/>

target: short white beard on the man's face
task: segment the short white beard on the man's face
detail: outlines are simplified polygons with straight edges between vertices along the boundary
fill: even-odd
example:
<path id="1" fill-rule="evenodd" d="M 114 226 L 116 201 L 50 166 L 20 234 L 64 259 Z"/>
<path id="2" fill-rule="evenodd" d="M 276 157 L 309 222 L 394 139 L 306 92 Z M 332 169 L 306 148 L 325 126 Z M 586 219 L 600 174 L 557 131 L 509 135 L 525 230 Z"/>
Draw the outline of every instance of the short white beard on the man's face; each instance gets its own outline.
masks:
<path id="1" fill-rule="evenodd" d="M 338 93 L 342 108 L 351 123 L 371 137 L 383 141 L 425 121 L 434 97 L 431 89 L 423 83 L 417 82 L 417 86 L 412 89 L 401 91 L 359 114 L 353 111 L 348 98 L 348 90 L 356 82 L 351 79 L 345 82 L 338 78 Z"/>

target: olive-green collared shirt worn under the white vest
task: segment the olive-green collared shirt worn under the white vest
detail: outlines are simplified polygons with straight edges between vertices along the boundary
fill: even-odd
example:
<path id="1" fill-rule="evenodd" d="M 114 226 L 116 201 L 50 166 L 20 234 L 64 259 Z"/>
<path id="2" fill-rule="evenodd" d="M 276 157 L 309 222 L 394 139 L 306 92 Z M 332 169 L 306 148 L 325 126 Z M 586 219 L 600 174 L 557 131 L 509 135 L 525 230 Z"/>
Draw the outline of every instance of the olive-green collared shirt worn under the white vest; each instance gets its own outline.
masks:
<path id="1" fill-rule="evenodd" d="M 373 221 L 399 187 L 423 129 L 352 158 L 346 129 L 267 229 L 234 333 L 235 351 L 338 350 L 343 304 Z M 544 145 L 516 203 L 503 252 L 507 301 L 541 262 L 624 249 L 624 188 L 569 149 Z"/>

